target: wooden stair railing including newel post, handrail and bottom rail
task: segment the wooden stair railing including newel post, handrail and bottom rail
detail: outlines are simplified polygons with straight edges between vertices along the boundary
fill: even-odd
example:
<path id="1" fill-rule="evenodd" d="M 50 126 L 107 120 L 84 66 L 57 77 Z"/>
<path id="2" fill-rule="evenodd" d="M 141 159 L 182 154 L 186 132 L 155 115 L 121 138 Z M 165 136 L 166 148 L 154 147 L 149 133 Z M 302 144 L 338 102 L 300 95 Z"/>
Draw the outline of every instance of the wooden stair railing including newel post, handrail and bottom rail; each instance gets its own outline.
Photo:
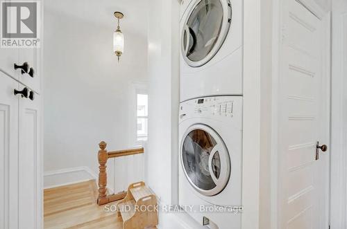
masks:
<path id="1" fill-rule="evenodd" d="M 107 146 L 107 143 L 105 143 L 104 141 L 99 143 L 100 150 L 98 152 L 98 161 L 99 161 L 99 196 L 97 200 L 98 205 L 103 205 L 106 203 L 124 199 L 127 193 L 127 192 L 120 192 L 118 194 L 107 194 L 108 181 L 107 181 L 107 173 L 106 173 L 106 167 L 107 167 L 106 163 L 108 162 L 108 159 L 144 153 L 143 147 L 107 152 L 106 146 Z"/>

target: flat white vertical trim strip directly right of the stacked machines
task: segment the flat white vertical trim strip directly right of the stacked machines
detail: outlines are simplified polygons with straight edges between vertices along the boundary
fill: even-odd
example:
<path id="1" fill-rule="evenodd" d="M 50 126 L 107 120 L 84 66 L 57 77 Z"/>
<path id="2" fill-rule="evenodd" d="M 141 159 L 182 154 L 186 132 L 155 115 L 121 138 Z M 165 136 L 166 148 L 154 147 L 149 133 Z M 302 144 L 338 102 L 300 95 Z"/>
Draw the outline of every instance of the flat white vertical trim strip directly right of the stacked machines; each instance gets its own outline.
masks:
<path id="1" fill-rule="evenodd" d="M 261 6 L 259 0 L 244 1 L 242 229 L 257 229 L 260 223 Z"/>

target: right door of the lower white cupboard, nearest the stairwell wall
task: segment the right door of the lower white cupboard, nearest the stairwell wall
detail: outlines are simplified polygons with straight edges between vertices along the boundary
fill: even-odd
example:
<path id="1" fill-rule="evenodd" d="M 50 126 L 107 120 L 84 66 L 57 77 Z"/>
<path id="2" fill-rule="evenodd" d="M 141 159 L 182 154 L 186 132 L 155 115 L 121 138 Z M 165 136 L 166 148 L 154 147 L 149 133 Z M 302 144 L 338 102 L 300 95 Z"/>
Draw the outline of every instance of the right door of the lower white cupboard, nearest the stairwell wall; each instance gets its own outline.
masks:
<path id="1" fill-rule="evenodd" d="M 19 99 L 19 228 L 41 228 L 40 97 Z"/>

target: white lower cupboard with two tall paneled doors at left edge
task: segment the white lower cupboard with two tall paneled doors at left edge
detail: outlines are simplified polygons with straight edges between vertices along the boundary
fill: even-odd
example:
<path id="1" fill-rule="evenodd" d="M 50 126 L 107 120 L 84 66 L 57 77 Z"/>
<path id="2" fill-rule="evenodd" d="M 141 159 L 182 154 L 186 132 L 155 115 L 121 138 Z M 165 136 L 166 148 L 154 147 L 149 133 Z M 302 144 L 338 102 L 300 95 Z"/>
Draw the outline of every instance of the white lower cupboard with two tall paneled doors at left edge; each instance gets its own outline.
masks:
<path id="1" fill-rule="evenodd" d="M 25 87 L 0 72 L 0 229 L 42 228 L 42 100 Z"/>

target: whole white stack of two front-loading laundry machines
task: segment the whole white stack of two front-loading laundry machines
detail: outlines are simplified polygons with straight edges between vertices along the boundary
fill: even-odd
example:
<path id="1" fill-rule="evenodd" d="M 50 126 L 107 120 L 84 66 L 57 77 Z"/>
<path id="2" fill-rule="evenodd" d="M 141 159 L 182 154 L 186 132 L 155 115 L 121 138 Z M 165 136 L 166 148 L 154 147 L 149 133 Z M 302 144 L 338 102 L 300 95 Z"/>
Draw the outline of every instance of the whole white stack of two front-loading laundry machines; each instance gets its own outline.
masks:
<path id="1" fill-rule="evenodd" d="M 179 203 L 202 225 L 241 228 L 242 0 L 183 0 L 180 31 Z"/>

